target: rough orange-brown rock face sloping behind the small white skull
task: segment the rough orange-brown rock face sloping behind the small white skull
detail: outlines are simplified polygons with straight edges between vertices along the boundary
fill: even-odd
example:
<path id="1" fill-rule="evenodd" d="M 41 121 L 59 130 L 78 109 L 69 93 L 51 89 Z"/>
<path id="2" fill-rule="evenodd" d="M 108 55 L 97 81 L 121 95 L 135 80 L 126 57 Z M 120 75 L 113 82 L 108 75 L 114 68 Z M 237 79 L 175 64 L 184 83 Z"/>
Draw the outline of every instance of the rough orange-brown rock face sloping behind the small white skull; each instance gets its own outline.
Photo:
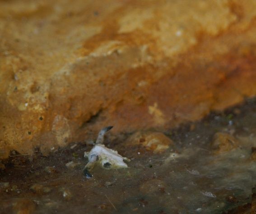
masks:
<path id="1" fill-rule="evenodd" d="M 0 1 L 0 158 L 255 95 L 255 0 Z"/>

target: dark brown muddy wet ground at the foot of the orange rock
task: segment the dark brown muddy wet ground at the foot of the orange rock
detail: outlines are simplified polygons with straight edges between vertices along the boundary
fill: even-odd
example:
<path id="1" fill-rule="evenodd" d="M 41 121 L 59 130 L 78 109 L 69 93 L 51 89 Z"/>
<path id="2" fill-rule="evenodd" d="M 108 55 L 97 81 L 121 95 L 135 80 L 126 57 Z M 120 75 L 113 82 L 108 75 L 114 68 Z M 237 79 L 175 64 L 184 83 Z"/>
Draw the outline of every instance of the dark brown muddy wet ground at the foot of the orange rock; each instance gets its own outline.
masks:
<path id="1" fill-rule="evenodd" d="M 53 148 L 48 157 L 13 151 L 0 165 L 0 213 L 256 212 L 255 99 L 165 132 L 174 146 L 160 154 L 123 146 L 130 134 L 105 140 L 131 159 L 128 168 L 96 166 L 92 178 L 83 174 L 90 142 Z"/>

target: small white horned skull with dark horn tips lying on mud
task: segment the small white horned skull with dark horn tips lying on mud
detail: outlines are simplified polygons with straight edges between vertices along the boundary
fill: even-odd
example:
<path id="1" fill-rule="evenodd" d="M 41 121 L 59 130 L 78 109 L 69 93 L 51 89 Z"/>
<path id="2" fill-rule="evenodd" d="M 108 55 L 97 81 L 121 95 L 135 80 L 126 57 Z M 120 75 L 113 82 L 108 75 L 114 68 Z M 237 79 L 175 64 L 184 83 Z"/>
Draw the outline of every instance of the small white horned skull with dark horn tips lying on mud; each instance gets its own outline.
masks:
<path id="1" fill-rule="evenodd" d="M 89 162 L 84 167 L 84 175 L 92 177 L 93 175 L 89 172 L 95 163 L 99 162 L 103 168 L 127 168 L 127 164 L 124 162 L 130 161 L 130 159 L 122 157 L 117 151 L 105 147 L 102 143 L 104 135 L 107 131 L 112 129 L 112 126 L 103 128 L 99 134 L 95 146 L 90 152 L 84 152 L 84 157 L 88 158 Z"/>

